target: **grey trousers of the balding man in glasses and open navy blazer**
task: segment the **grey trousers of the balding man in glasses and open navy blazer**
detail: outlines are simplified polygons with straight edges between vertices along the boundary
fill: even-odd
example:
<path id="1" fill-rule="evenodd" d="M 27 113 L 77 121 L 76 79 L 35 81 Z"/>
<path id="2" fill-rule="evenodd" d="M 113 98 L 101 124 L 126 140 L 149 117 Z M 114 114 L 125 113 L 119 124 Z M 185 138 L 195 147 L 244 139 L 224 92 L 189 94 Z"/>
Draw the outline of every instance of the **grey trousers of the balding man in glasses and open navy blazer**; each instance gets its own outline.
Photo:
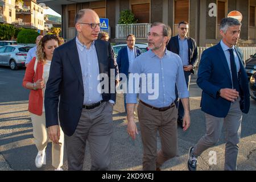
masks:
<path id="1" fill-rule="evenodd" d="M 65 135 L 68 170 L 81 171 L 84 164 L 85 145 L 88 140 L 91 170 L 108 170 L 110 165 L 110 139 L 113 133 L 113 105 L 103 102 L 94 109 L 82 109 L 75 133 Z"/>

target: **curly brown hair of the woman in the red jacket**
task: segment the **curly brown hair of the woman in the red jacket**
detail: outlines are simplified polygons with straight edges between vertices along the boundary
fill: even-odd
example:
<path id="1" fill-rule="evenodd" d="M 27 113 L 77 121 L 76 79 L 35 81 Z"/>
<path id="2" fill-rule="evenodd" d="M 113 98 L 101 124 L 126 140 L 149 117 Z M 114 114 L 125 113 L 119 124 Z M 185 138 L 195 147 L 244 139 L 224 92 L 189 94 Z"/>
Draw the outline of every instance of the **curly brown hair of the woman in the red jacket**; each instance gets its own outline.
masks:
<path id="1" fill-rule="evenodd" d="M 43 38 L 39 41 L 38 47 L 36 48 L 36 57 L 38 57 L 39 63 L 46 64 L 46 53 L 44 52 L 44 45 L 49 40 L 56 40 L 58 45 L 61 45 L 60 39 L 58 36 L 51 34 L 51 35 L 44 35 Z"/>

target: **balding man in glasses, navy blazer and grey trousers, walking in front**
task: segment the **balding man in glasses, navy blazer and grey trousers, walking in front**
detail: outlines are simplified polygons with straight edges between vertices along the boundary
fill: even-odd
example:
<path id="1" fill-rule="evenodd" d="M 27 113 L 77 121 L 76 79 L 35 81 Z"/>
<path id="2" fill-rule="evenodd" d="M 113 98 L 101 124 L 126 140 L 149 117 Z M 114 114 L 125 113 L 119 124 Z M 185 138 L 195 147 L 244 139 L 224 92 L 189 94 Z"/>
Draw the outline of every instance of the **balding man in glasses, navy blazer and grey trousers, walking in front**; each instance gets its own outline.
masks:
<path id="1" fill-rule="evenodd" d="M 100 19 L 95 11 L 80 10 L 76 14 L 75 24 L 76 38 L 55 49 L 53 53 L 44 102 L 46 126 L 51 140 L 57 142 L 59 104 L 68 169 L 82 170 L 87 140 L 91 170 L 107 170 L 110 164 L 115 91 L 101 92 L 106 86 L 110 92 L 113 90 L 110 85 L 115 85 L 114 77 L 110 77 L 110 69 L 114 69 L 112 47 L 109 42 L 97 40 Z M 100 73 L 108 74 L 109 84 L 97 89 L 103 80 L 97 78 Z"/>

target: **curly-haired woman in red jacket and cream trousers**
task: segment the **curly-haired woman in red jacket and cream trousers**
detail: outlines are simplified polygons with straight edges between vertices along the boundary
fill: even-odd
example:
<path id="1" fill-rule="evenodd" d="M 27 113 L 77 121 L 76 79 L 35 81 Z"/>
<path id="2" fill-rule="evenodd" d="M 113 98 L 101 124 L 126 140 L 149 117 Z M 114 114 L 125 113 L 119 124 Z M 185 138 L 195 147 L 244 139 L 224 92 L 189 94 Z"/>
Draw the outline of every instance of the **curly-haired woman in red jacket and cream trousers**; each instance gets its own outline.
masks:
<path id="1" fill-rule="evenodd" d="M 31 114 L 35 145 L 38 148 L 38 155 L 36 155 L 35 159 L 35 165 L 38 168 L 46 164 L 46 147 L 49 141 L 44 113 L 44 91 L 49 76 L 53 51 L 60 44 L 60 40 L 56 35 L 43 36 L 39 42 L 36 57 L 33 57 L 27 65 L 23 78 L 23 86 L 30 89 L 28 111 Z M 52 143 L 52 166 L 55 167 L 55 171 L 63 171 L 61 166 L 63 166 L 64 134 L 60 127 L 59 133 L 59 143 Z"/>

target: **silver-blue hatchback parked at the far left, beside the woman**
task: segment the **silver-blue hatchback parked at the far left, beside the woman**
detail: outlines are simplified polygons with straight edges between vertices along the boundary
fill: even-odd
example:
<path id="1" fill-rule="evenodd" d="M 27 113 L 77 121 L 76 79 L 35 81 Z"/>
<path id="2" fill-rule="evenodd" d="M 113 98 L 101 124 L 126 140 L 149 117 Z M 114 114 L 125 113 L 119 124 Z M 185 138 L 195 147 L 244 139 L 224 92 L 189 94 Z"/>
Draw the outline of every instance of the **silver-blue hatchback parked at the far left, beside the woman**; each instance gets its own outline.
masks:
<path id="1" fill-rule="evenodd" d="M 28 46 L 3 46 L 0 48 L 0 65 L 9 66 L 12 70 L 24 67 Z"/>

